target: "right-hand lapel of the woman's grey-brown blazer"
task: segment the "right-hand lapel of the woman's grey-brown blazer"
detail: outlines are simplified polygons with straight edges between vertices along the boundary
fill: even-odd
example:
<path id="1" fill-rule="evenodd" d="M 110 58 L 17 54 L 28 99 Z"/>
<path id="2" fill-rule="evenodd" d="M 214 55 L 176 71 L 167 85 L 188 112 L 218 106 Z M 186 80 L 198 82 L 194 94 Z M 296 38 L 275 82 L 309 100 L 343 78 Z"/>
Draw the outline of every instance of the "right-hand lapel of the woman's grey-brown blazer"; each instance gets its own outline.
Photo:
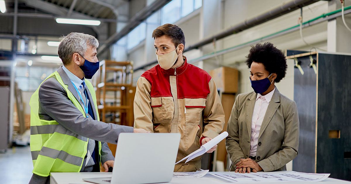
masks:
<path id="1" fill-rule="evenodd" d="M 269 122 L 272 120 L 272 117 L 273 117 L 274 113 L 276 113 L 279 106 L 280 106 L 280 93 L 279 93 L 278 89 L 276 88 L 276 90 L 273 93 L 272 99 L 269 102 L 269 105 L 267 107 L 266 114 L 264 115 L 262 125 L 260 128 L 260 134 L 258 135 L 258 139 L 261 137 L 264 130 L 268 126 Z"/>

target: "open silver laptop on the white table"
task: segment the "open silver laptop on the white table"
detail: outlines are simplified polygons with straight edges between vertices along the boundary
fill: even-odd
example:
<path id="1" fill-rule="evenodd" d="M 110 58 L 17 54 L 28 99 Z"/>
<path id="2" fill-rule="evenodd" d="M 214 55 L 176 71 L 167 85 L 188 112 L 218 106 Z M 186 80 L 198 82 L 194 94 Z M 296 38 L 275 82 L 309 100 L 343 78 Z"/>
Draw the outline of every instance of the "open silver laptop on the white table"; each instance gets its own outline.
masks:
<path id="1" fill-rule="evenodd" d="M 180 134 L 121 133 L 118 137 L 112 178 L 84 178 L 98 184 L 170 182 Z"/>

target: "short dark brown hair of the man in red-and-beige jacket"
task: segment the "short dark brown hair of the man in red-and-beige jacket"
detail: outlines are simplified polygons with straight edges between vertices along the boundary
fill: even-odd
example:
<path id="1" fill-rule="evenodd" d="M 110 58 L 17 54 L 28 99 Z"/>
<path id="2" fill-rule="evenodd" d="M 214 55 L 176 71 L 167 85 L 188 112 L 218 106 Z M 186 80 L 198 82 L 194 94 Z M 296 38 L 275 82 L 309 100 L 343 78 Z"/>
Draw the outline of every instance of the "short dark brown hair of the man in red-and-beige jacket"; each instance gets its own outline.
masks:
<path id="1" fill-rule="evenodd" d="M 152 38 L 154 39 L 163 35 L 171 37 L 175 47 L 177 47 L 180 43 L 183 43 L 185 46 L 185 36 L 183 30 L 181 30 L 177 25 L 166 23 L 159 26 L 152 32 Z"/>

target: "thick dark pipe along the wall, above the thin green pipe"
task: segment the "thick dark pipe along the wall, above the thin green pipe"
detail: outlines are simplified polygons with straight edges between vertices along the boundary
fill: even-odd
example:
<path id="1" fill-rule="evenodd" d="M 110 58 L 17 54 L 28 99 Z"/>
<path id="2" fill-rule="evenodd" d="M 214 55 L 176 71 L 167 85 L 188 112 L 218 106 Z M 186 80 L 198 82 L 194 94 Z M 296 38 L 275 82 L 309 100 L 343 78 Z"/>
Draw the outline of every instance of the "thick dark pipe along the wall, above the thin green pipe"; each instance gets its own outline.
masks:
<path id="1" fill-rule="evenodd" d="M 320 0 L 292 0 L 292 1 L 286 2 L 286 3 L 280 5 L 276 8 L 273 8 L 267 12 L 264 12 L 260 15 L 257 15 L 256 17 L 254 17 L 252 19 L 245 20 L 245 21 L 243 21 L 235 26 L 232 26 L 229 29 L 226 29 L 221 33 L 212 35 L 204 40 L 201 40 L 201 41 L 195 43 L 194 45 L 191 45 L 191 46 L 185 48 L 184 52 L 199 48 L 199 47 L 204 46 L 208 43 L 212 43 L 213 41 L 225 38 L 226 36 L 239 33 L 245 29 L 249 29 L 251 27 L 257 26 L 261 23 L 264 23 L 264 22 L 267 22 L 267 21 L 272 20 L 274 18 L 277 18 L 278 16 L 282 16 L 284 14 L 290 13 L 296 9 L 301 8 L 301 7 L 311 5 L 317 1 L 320 1 Z M 138 68 L 135 68 L 134 71 L 143 69 L 145 67 L 148 67 L 148 66 L 150 66 L 152 64 L 156 64 L 156 63 L 157 63 L 157 60 L 150 62 L 150 63 L 146 63 Z"/>

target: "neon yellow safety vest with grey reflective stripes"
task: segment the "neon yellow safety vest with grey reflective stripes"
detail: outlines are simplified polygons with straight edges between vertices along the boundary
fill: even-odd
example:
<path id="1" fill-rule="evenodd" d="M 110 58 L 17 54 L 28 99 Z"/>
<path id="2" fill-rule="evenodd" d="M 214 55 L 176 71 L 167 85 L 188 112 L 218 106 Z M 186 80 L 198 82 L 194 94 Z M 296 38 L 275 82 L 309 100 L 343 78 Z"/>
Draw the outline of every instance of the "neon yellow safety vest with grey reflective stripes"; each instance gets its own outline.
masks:
<path id="1" fill-rule="evenodd" d="M 69 100 L 86 117 L 79 101 L 68 90 L 68 86 L 64 84 L 59 73 L 55 71 L 45 80 L 50 77 L 55 78 L 62 85 L 67 92 Z M 93 100 L 97 112 L 97 120 L 100 121 L 94 88 L 88 80 L 85 80 L 85 83 L 92 96 L 91 100 Z M 39 88 L 34 92 L 29 102 L 31 106 L 31 155 L 34 165 L 33 173 L 46 177 L 49 176 L 50 172 L 79 172 L 82 168 L 84 157 L 87 154 L 89 139 L 67 130 L 54 120 L 47 121 L 39 118 Z M 99 158 L 101 162 L 100 153 L 101 142 L 99 141 Z"/>

